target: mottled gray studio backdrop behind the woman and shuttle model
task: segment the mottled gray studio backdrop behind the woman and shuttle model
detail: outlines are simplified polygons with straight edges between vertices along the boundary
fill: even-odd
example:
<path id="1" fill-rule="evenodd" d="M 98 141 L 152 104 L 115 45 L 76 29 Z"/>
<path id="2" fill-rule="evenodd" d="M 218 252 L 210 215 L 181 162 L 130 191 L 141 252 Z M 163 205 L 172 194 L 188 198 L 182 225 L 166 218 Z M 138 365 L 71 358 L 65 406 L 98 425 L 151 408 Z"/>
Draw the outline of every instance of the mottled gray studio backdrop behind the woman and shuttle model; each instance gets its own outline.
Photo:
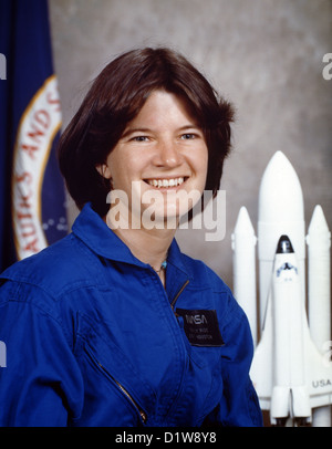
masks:
<path id="1" fill-rule="evenodd" d="M 332 228 L 331 0 L 50 0 L 55 71 L 65 126 L 90 82 L 118 53 L 168 45 L 234 102 L 234 152 L 225 166 L 226 236 L 181 230 L 184 251 L 232 286 L 230 236 L 246 206 L 257 229 L 262 173 L 277 150 L 294 166 L 309 224 L 317 203 Z M 332 73 L 332 70 L 331 70 Z M 70 222 L 76 209 L 69 201 Z"/>

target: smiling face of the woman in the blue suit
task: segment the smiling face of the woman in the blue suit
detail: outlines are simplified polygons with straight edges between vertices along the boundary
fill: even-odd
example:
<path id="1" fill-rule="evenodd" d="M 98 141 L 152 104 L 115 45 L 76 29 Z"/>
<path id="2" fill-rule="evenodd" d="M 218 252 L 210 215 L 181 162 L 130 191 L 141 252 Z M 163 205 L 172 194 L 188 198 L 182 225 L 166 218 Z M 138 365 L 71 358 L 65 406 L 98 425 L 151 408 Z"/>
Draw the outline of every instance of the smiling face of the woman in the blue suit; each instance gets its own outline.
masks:
<path id="1" fill-rule="evenodd" d="M 100 170 L 112 179 L 114 194 L 125 194 L 129 217 L 136 211 L 141 222 L 144 213 L 165 222 L 200 199 L 207 163 L 203 130 L 185 102 L 154 91 Z"/>

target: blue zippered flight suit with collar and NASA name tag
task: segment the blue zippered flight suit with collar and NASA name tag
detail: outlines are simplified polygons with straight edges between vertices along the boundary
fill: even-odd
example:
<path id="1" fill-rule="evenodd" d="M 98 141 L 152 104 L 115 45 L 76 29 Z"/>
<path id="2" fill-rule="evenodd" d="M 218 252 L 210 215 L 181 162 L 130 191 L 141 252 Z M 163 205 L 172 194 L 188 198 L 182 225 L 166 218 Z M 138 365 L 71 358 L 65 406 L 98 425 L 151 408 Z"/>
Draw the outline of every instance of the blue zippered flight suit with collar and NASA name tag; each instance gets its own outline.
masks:
<path id="1" fill-rule="evenodd" d="M 86 205 L 0 285 L 0 426 L 262 425 L 247 317 L 175 240 L 164 289 Z"/>

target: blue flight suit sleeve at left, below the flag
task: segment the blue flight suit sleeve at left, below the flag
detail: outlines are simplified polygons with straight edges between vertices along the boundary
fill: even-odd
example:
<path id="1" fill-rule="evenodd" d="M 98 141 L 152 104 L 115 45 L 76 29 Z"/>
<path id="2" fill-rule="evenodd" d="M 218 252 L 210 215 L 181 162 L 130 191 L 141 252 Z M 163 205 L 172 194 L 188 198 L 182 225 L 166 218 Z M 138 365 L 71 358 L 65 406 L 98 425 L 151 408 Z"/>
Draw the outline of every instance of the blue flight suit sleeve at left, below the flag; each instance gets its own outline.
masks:
<path id="1" fill-rule="evenodd" d="M 0 427 L 66 426 L 82 406 L 76 361 L 61 324 L 11 284 L 0 289 Z"/>

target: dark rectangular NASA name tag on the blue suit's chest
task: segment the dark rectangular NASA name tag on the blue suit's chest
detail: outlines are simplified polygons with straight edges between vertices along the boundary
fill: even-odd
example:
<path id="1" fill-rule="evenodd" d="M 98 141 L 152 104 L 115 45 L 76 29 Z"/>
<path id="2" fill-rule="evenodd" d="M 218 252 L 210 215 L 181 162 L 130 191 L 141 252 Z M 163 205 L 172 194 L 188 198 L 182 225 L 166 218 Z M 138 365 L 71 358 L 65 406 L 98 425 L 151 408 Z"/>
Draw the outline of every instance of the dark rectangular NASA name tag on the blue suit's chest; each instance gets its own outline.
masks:
<path id="1" fill-rule="evenodd" d="M 216 311 L 176 309 L 184 320 L 184 330 L 193 346 L 222 346 Z"/>

